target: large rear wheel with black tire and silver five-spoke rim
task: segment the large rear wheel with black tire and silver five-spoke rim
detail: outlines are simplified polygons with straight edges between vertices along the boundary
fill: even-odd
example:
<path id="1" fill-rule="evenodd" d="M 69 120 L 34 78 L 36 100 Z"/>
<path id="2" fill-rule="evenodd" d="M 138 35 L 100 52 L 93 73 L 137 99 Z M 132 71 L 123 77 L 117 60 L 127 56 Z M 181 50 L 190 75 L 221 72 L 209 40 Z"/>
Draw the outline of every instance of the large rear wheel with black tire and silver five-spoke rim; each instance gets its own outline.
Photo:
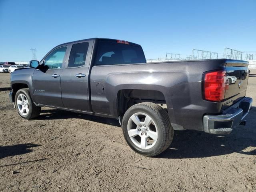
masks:
<path id="1" fill-rule="evenodd" d="M 151 102 L 131 106 L 124 114 L 122 129 L 130 148 L 148 157 L 164 152 L 174 132 L 167 112 Z"/>

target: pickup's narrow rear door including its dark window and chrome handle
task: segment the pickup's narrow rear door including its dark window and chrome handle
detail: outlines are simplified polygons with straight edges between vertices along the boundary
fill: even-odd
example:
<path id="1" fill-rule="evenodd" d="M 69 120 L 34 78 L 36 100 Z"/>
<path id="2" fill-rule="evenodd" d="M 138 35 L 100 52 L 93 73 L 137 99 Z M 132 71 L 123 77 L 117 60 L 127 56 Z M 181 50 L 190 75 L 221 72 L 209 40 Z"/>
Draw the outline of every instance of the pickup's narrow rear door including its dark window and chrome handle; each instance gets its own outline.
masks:
<path id="1" fill-rule="evenodd" d="M 62 71 L 61 90 L 65 108 L 88 110 L 88 70 L 93 41 L 72 44 L 67 66 Z"/>

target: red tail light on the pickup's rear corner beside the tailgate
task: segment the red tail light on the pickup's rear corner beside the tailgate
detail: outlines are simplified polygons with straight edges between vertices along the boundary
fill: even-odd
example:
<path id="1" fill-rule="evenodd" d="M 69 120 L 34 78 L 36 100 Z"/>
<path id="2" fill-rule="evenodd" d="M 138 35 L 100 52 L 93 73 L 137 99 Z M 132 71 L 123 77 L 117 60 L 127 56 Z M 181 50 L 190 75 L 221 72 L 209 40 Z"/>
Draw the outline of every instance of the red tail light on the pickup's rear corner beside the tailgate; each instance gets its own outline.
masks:
<path id="1" fill-rule="evenodd" d="M 226 92 L 226 71 L 206 72 L 204 74 L 204 99 L 220 102 Z"/>

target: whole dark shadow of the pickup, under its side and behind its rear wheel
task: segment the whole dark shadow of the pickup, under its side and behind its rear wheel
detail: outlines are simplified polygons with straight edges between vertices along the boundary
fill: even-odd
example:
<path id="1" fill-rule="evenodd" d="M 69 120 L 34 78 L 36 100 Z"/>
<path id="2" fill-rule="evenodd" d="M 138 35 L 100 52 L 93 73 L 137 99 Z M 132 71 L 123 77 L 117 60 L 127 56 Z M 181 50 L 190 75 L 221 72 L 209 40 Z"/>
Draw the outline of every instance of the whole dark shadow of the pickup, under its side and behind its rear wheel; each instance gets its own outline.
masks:
<path id="1" fill-rule="evenodd" d="M 207 134 L 202 131 L 175 131 L 170 147 L 156 158 L 204 158 L 231 153 L 256 155 L 256 107 L 246 116 L 247 125 L 238 126 L 229 135 Z M 118 120 L 98 116 L 78 114 L 63 110 L 42 110 L 37 120 L 81 118 L 120 127 Z"/>

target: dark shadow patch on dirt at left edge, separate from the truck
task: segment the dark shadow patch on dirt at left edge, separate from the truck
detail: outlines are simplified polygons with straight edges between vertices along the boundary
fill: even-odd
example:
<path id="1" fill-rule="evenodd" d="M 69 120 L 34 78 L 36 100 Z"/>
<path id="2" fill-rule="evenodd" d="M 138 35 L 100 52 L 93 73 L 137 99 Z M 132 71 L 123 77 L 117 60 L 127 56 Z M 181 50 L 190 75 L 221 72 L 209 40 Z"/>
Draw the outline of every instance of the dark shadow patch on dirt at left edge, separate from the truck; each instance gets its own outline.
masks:
<path id="1" fill-rule="evenodd" d="M 30 148 L 38 146 L 40 145 L 31 143 L 17 144 L 11 146 L 0 146 L 0 159 L 8 156 L 15 156 L 32 152 L 33 150 Z"/>

